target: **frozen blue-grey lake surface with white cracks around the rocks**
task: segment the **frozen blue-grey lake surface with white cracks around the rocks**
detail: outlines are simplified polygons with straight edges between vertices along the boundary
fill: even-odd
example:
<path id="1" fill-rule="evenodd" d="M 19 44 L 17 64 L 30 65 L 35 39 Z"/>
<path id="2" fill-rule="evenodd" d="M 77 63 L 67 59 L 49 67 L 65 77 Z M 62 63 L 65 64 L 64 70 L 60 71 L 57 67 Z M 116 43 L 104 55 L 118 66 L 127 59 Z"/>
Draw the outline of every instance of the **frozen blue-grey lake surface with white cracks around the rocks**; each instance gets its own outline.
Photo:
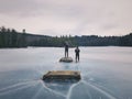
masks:
<path id="1" fill-rule="evenodd" d="M 132 47 L 80 47 L 79 63 L 63 56 L 62 47 L 0 50 L 0 99 L 132 99 Z M 81 80 L 46 84 L 48 70 L 79 70 Z"/>

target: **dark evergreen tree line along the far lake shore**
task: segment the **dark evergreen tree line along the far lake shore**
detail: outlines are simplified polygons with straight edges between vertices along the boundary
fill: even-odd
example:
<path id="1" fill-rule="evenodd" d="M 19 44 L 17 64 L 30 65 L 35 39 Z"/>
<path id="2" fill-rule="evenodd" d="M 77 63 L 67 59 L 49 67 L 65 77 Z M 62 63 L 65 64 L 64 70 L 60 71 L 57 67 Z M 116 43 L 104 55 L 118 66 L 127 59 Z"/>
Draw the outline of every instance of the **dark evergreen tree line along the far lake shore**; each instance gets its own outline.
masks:
<path id="1" fill-rule="evenodd" d="M 64 46 L 65 41 L 74 46 L 132 46 L 132 33 L 123 36 L 98 36 L 98 35 L 81 35 L 81 36 L 50 36 L 35 35 L 22 32 L 16 32 L 14 29 L 0 28 L 0 48 L 2 47 L 28 47 L 28 46 Z"/>

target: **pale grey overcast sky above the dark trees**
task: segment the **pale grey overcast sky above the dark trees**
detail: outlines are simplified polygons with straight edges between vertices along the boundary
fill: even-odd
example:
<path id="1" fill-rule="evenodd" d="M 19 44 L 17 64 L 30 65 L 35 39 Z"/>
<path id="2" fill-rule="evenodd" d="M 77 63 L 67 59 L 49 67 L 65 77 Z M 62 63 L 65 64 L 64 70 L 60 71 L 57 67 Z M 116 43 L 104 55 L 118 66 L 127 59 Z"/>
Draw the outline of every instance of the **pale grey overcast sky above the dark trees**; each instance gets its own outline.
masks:
<path id="1" fill-rule="evenodd" d="M 0 0 L 0 26 L 44 35 L 125 35 L 132 0 Z"/>

